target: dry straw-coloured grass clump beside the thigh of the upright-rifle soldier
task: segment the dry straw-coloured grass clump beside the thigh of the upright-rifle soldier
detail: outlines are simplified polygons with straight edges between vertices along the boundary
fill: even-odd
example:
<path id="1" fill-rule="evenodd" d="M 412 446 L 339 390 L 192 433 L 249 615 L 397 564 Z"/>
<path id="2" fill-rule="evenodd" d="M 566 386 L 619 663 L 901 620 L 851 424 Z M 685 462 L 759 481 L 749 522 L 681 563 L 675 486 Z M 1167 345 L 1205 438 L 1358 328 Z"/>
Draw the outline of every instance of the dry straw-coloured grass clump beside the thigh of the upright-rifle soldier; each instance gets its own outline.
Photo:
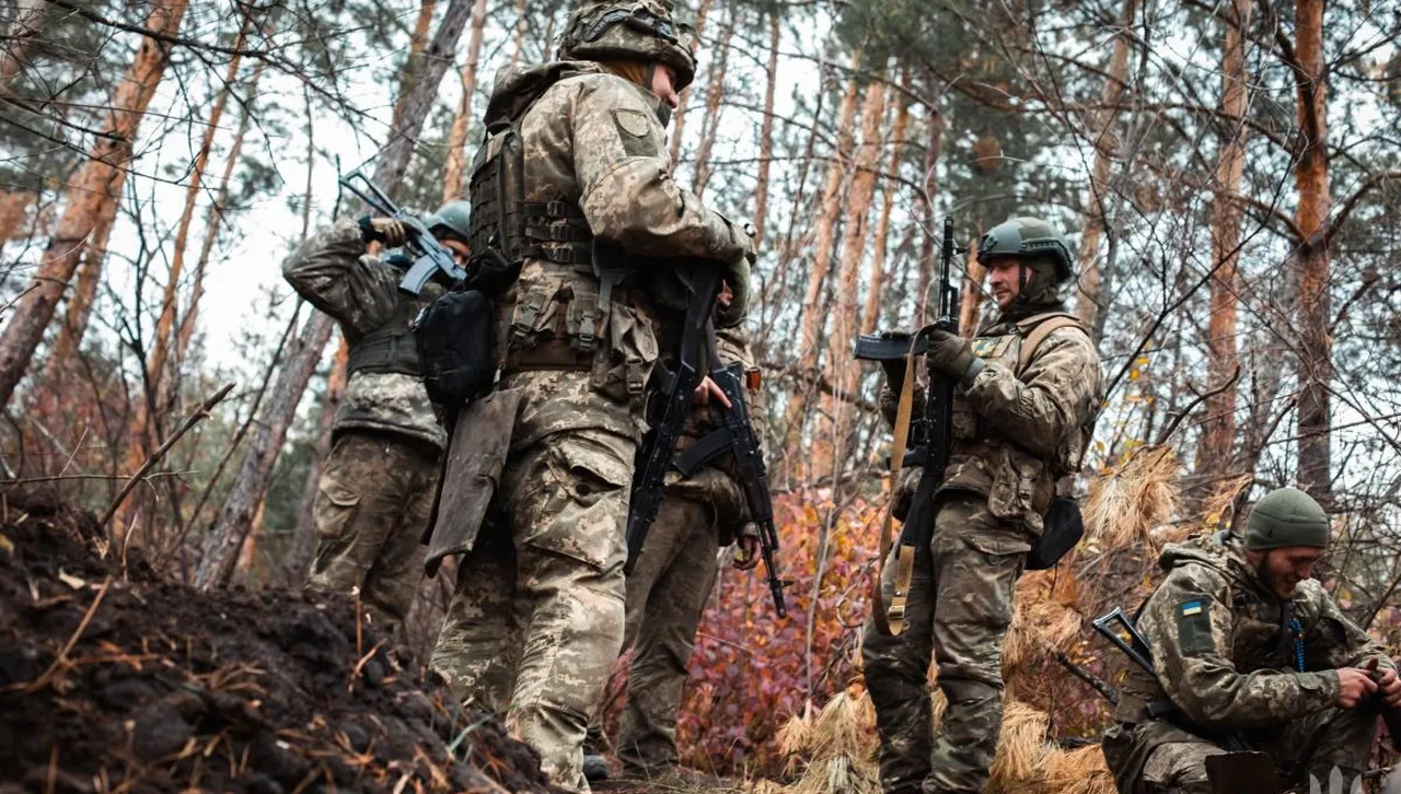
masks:
<path id="1" fill-rule="evenodd" d="M 1069 567 L 1031 571 L 1017 583 L 1016 612 L 1002 647 L 1002 675 L 1040 651 L 1068 648 L 1082 636 L 1080 583 Z"/>

